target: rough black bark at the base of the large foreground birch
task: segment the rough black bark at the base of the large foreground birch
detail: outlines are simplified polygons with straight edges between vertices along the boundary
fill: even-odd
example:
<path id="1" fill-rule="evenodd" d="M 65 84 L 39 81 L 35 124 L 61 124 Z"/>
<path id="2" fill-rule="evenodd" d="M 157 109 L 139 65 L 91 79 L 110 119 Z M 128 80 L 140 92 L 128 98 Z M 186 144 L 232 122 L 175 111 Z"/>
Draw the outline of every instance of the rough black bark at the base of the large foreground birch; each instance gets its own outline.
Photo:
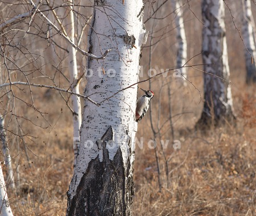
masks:
<path id="1" fill-rule="evenodd" d="M 120 147 L 114 159 L 109 159 L 106 149 L 106 143 L 109 141 L 113 141 L 111 126 L 101 138 L 103 160 L 100 162 L 97 156 L 89 162 L 76 195 L 72 200 L 68 198 L 67 215 L 129 215 L 127 208 L 131 206 L 132 200 L 126 192 L 133 194 L 133 178 L 128 177 L 131 164 L 129 162 L 125 173 Z M 125 182 L 127 177 L 128 184 Z"/>

